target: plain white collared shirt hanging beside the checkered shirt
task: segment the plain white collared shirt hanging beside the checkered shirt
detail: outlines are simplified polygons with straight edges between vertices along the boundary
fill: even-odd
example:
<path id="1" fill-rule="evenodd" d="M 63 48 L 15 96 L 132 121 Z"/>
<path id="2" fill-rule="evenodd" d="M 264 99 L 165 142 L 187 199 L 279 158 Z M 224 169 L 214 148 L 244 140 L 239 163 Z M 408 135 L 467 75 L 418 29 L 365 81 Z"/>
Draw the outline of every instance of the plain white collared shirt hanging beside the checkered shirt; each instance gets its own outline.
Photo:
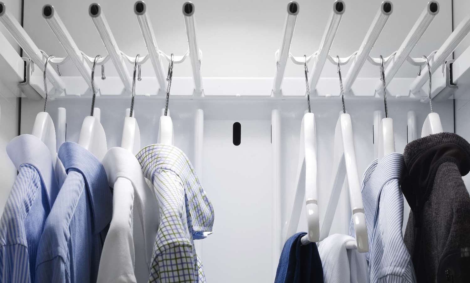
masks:
<path id="1" fill-rule="evenodd" d="M 158 229 L 158 204 L 135 156 L 113 147 L 102 160 L 113 187 L 113 216 L 97 282 L 147 283 Z"/>

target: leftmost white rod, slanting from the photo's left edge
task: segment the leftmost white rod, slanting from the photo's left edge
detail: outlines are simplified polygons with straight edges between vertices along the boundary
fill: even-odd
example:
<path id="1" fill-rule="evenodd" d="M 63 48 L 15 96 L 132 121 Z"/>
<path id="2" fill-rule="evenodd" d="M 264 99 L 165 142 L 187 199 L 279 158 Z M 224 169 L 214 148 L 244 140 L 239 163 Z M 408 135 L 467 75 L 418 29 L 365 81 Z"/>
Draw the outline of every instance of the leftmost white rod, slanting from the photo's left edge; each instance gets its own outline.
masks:
<path id="1" fill-rule="evenodd" d="M 12 37 L 15 38 L 18 45 L 30 56 L 31 60 L 38 65 L 39 69 L 44 71 L 46 59 L 3 2 L 0 2 L 0 22 L 3 23 Z M 65 84 L 51 65 L 47 66 L 46 76 L 56 90 L 63 91 L 65 89 Z"/>

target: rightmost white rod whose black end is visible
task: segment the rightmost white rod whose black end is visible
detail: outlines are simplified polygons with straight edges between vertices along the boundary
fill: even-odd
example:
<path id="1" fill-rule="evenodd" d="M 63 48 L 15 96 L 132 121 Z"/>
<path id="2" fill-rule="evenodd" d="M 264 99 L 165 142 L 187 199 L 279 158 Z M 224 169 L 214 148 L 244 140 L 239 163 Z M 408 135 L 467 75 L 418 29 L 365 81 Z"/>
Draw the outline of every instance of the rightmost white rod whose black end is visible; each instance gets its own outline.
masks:
<path id="1" fill-rule="evenodd" d="M 388 64 L 385 69 L 385 82 L 389 84 L 392 78 L 397 74 L 401 65 L 407 60 L 409 54 L 415 48 L 416 43 L 423 36 L 424 31 L 427 30 L 434 17 L 439 13 L 439 3 L 437 1 L 430 1 L 424 8 L 423 13 L 416 20 L 415 25 L 408 33 L 405 40 L 401 44 L 397 53 L 393 57 L 392 61 Z M 377 83 L 376 91 L 379 92 L 382 89 L 382 82 Z"/>

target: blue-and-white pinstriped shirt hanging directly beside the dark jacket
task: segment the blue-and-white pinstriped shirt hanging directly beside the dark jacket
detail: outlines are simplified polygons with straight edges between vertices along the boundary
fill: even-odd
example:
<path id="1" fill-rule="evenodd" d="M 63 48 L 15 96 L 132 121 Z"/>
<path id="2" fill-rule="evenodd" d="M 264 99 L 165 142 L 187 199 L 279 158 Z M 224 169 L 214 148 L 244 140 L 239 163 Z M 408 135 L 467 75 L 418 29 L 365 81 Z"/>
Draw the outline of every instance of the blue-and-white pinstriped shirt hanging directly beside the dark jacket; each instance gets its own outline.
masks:
<path id="1" fill-rule="evenodd" d="M 411 256 L 403 242 L 403 195 L 399 180 L 405 170 L 403 154 L 390 153 L 372 161 L 362 176 L 371 283 L 415 283 Z M 350 236 L 355 235 L 351 222 Z"/>

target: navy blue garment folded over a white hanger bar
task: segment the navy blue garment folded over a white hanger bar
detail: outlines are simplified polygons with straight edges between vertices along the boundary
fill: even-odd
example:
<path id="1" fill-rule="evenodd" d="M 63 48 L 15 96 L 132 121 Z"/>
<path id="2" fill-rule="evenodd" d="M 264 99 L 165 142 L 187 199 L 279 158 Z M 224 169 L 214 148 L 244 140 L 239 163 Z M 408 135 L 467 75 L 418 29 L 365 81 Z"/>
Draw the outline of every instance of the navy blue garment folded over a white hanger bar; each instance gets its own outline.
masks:
<path id="1" fill-rule="evenodd" d="M 302 245 L 300 242 L 306 234 L 299 232 L 287 239 L 274 283 L 323 283 L 323 268 L 317 245 Z"/>

